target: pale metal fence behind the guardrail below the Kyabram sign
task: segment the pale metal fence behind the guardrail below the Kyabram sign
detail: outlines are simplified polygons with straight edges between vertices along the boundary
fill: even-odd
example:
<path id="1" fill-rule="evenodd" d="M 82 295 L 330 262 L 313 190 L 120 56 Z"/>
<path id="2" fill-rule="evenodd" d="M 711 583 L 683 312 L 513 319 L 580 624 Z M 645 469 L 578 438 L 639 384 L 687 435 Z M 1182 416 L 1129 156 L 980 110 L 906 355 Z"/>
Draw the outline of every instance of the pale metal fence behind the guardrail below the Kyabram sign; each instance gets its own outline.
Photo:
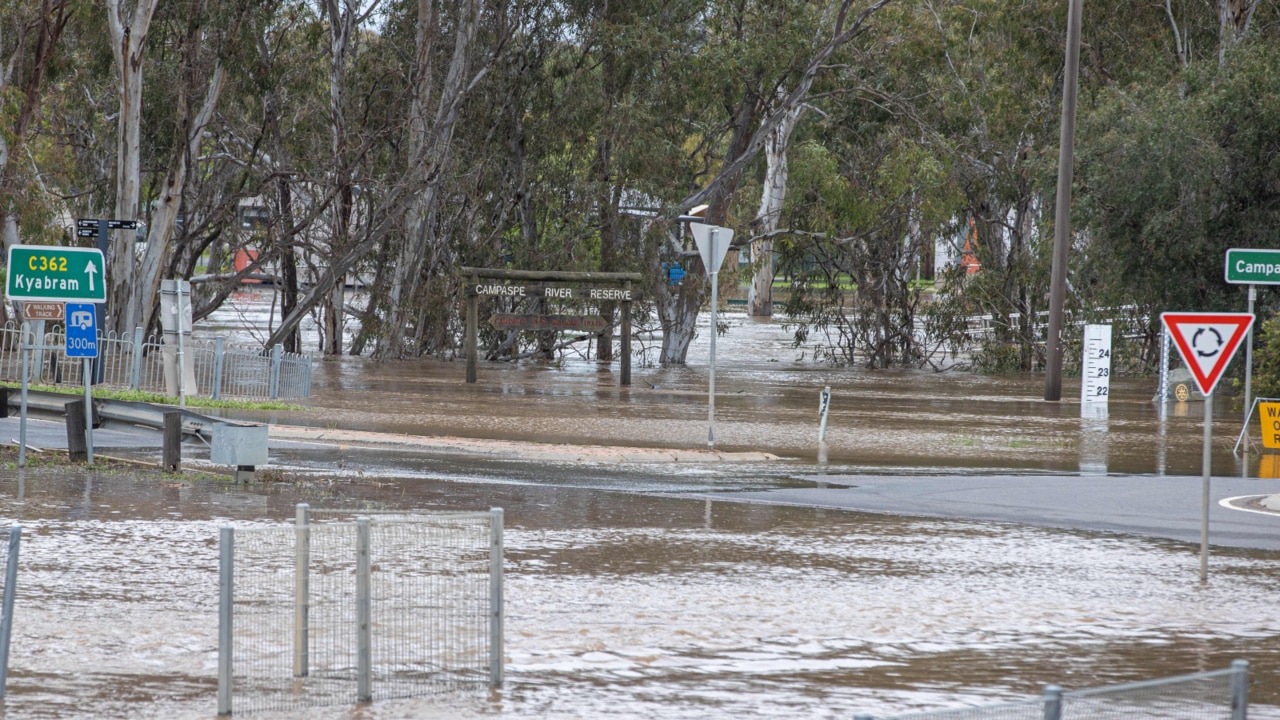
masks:
<path id="1" fill-rule="evenodd" d="M 33 323 L 38 328 L 37 323 Z M 33 383 L 82 386 L 83 361 L 67 357 L 63 325 L 32 332 L 29 375 Z M 177 348 L 155 337 L 143 338 L 142 328 L 132 334 L 99 333 L 99 357 L 93 364 L 99 384 L 165 395 L 164 359 Z M 184 342 L 183 352 L 195 368 L 197 392 L 214 400 L 288 400 L 311 396 L 311 354 L 285 352 L 279 345 L 270 352 L 238 347 L 225 338 Z M 177 368 L 177 365 L 173 365 Z M 0 380 L 22 382 L 22 328 L 0 327 Z M 175 386 L 177 387 L 177 386 Z"/>

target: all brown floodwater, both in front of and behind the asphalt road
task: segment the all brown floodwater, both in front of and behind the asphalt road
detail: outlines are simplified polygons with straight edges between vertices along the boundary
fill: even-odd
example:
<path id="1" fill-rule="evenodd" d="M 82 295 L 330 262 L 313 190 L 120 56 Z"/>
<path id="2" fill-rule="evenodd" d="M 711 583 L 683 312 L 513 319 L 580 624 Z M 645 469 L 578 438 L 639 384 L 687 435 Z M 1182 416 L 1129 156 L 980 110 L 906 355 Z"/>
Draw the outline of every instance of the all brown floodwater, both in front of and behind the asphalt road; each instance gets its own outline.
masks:
<path id="1" fill-rule="evenodd" d="M 294 448 L 302 482 L 236 487 L 132 473 L 0 471 L 26 528 L 4 715 L 212 717 L 218 528 L 315 507 L 503 507 L 507 679 L 498 692 L 296 717 L 831 717 L 1004 701 L 1252 664 L 1253 717 L 1280 717 L 1280 553 L 1134 536 L 673 497 L 832 473 L 1198 474 L 1201 406 L 1116 379 L 1105 419 L 1039 400 L 1038 375 L 812 363 L 780 323 L 728 316 L 716 446 L 754 465 L 571 465 Z M 635 384 L 589 357 L 317 364 L 283 423 L 538 442 L 705 447 L 707 343 Z M 815 462 L 831 387 L 829 465 Z M 1215 423 L 1215 473 L 1253 474 Z M 275 715 L 270 715 L 275 716 Z M 288 715 L 283 715 L 288 716 Z"/>

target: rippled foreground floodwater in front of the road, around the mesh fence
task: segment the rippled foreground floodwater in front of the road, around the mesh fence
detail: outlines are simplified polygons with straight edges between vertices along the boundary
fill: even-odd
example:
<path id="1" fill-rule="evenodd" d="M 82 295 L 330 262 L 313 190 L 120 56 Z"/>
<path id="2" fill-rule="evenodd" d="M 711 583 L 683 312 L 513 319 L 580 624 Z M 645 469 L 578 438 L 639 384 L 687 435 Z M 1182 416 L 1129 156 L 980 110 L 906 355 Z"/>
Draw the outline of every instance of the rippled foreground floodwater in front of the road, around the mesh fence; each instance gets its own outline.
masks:
<path id="1" fill-rule="evenodd" d="M 20 483 L 20 488 L 19 488 Z M 19 500 L 19 489 L 22 498 Z M 507 515 L 500 693 L 307 717 L 841 717 L 1253 664 L 1280 717 L 1277 555 L 530 479 L 268 484 L 28 470 L 6 715 L 210 717 L 218 527 L 317 507 Z"/>

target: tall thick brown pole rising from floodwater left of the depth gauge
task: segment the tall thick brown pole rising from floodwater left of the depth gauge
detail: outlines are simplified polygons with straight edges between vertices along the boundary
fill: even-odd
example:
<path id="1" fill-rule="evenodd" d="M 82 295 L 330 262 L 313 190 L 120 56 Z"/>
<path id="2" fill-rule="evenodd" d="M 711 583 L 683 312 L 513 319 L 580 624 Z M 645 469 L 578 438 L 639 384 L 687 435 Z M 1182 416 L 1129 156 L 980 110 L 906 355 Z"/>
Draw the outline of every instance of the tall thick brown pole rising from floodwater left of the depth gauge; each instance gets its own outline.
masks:
<path id="1" fill-rule="evenodd" d="M 1071 245 L 1071 176 L 1075 154 L 1075 96 L 1080 76 L 1080 24 L 1084 0 L 1068 0 L 1066 69 L 1062 74 L 1062 131 L 1057 152 L 1053 215 L 1053 274 L 1048 291 L 1044 342 L 1044 400 L 1062 400 L 1062 309 L 1066 305 L 1066 251 Z"/>

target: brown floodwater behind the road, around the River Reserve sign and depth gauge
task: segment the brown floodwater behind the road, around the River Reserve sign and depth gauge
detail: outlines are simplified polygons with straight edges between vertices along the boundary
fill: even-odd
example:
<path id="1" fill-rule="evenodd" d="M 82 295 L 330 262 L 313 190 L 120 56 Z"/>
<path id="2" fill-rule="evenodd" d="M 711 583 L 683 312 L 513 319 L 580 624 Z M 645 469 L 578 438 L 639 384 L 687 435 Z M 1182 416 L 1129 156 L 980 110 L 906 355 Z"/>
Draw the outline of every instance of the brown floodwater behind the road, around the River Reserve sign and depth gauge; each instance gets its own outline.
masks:
<path id="1" fill-rule="evenodd" d="M 831 387 L 828 457 L 850 470 L 1201 471 L 1203 406 L 1161 410 L 1151 402 L 1153 378 L 1114 379 L 1107 411 L 1082 419 L 1078 378 L 1065 379 L 1064 402 L 1047 404 L 1043 375 L 835 368 L 814 363 L 812 345 L 792 347 L 783 320 L 756 323 L 741 313 L 722 320 L 728 331 L 717 341 L 717 448 L 814 461 L 818 395 Z M 707 447 L 705 318 L 686 366 L 654 366 L 657 348 L 640 346 L 631 387 L 620 387 L 617 364 L 598 364 L 585 345 L 554 363 L 481 363 L 472 386 L 463 382 L 461 360 L 326 360 L 315 369 L 310 411 L 257 418 L 412 434 Z M 1216 406 L 1213 471 L 1257 474 L 1257 455 L 1231 454 L 1242 413 L 1231 398 Z"/>

